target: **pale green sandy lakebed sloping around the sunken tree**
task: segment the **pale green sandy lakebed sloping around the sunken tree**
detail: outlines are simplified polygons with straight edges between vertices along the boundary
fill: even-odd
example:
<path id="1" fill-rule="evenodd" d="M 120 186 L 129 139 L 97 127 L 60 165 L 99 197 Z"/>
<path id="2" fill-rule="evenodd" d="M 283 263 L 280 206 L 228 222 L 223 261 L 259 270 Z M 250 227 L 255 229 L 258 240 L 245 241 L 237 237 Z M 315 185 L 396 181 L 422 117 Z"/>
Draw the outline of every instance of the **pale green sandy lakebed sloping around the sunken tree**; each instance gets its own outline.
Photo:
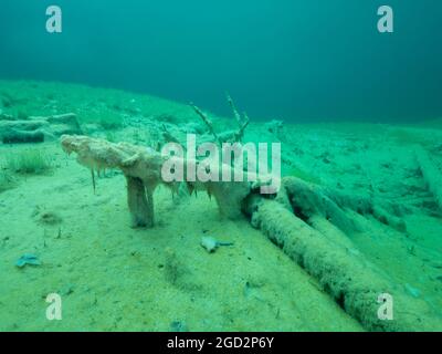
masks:
<path id="1" fill-rule="evenodd" d="M 201 124 L 187 105 L 81 85 L 0 82 L 0 98 L 8 114 L 74 112 L 86 134 L 136 144 L 157 138 L 156 122 L 179 137 L 179 127 Z M 232 128 L 232 118 L 212 117 L 218 131 Z M 419 144 L 442 168 L 441 129 L 286 123 L 275 135 L 252 117 L 245 140 L 282 142 L 283 175 L 406 208 L 407 231 L 358 217 L 361 232 L 337 239 L 442 316 L 442 215 L 413 154 Z M 206 194 L 172 199 L 159 188 L 157 226 L 134 230 L 124 177 L 107 171 L 94 195 L 90 171 L 56 142 L 0 145 L 0 165 L 35 148 L 51 170 L 14 175 L 14 188 L 0 191 L 0 330 L 361 330 L 245 218 L 221 219 Z M 202 236 L 234 246 L 209 254 Z M 19 269 L 24 253 L 42 264 Z M 45 319 L 52 292 L 62 295 L 62 321 Z"/>

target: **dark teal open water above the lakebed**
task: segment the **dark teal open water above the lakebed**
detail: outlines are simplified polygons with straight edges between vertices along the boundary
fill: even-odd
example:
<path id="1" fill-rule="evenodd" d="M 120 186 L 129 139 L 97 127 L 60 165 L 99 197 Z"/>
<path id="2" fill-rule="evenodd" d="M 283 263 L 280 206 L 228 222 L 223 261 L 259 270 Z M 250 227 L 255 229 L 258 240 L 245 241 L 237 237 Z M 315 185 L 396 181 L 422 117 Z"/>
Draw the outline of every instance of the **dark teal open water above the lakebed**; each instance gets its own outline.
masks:
<path id="1" fill-rule="evenodd" d="M 63 33 L 45 9 L 63 10 Z M 394 33 L 377 9 L 394 10 Z M 441 0 L 1 0 L 0 79 L 145 92 L 253 118 L 442 116 Z"/>

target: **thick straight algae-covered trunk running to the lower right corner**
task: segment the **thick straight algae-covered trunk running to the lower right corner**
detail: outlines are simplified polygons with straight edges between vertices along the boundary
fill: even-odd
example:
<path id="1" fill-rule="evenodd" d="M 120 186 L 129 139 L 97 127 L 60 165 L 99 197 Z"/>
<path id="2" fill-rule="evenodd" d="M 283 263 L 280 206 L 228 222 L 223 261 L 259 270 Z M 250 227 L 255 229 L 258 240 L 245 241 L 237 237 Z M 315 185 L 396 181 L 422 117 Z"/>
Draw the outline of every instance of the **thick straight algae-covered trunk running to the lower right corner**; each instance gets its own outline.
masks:
<path id="1" fill-rule="evenodd" d="M 332 242 L 275 200 L 250 197 L 252 225 L 315 277 L 325 291 L 371 331 L 442 330 L 440 317 L 420 299 L 406 294 L 381 270 Z M 392 296 L 392 320 L 378 315 L 379 296 Z"/>

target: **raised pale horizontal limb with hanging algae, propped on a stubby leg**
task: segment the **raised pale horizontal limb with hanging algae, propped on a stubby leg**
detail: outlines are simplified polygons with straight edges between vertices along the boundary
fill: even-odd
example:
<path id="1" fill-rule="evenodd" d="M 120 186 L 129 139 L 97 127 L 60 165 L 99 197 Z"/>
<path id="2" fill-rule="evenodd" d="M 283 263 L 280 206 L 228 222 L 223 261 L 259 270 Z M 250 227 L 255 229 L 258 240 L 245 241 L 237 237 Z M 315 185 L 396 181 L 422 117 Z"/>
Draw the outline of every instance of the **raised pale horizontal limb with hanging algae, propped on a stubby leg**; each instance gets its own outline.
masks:
<path id="1" fill-rule="evenodd" d="M 141 146 L 127 143 L 114 144 L 104 139 L 91 138 L 87 136 L 64 135 L 61 138 L 62 147 L 67 153 L 75 153 L 77 162 L 92 170 L 117 168 L 123 171 L 127 179 L 128 207 L 134 227 L 154 226 L 154 191 L 158 185 L 165 185 L 172 192 L 178 192 L 180 181 L 165 181 L 161 169 L 166 162 L 180 164 L 187 170 L 196 169 L 199 166 L 197 160 L 183 160 L 168 156 Z M 175 166 L 175 165 L 173 165 Z M 231 166 L 221 165 L 214 174 L 220 175 L 221 170 L 230 171 Z M 250 194 L 252 183 L 248 181 L 188 181 L 186 185 L 192 192 L 206 190 L 209 196 L 217 200 L 220 212 L 228 218 L 235 218 L 241 215 L 242 201 Z"/>

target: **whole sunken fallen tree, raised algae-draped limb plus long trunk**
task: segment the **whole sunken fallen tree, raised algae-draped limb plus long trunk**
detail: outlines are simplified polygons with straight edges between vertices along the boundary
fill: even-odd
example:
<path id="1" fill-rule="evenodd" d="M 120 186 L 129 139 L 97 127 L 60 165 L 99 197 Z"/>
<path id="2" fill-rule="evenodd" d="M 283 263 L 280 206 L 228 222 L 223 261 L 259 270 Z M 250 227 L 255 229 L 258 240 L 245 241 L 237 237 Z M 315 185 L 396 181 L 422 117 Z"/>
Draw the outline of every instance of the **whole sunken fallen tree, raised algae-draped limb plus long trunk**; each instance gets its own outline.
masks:
<path id="1" fill-rule="evenodd" d="M 179 183 L 165 181 L 161 166 L 178 157 L 164 157 L 158 152 L 126 143 L 113 144 L 86 136 L 62 136 L 63 149 L 77 155 L 77 162 L 92 171 L 120 169 L 127 180 L 127 200 L 133 227 L 152 227 L 154 191 L 165 185 L 172 192 Z M 198 160 L 186 160 L 196 168 Z M 223 165 L 221 168 L 232 169 Z M 249 178 L 246 178 L 249 180 Z M 265 178 L 263 178 L 265 180 Z M 434 331 L 442 321 L 429 304 L 408 295 L 380 269 L 352 253 L 346 242 L 334 242 L 315 229 L 318 221 L 330 222 L 345 235 L 358 231 L 347 208 L 360 215 L 376 216 L 376 205 L 368 199 L 351 198 L 307 184 L 298 178 L 284 178 L 276 196 L 259 192 L 260 178 L 251 181 L 185 181 L 190 192 L 206 190 L 214 196 L 221 214 L 248 215 L 252 226 L 261 229 L 288 257 L 318 279 L 323 289 L 350 315 L 371 331 Z M 394 301 L 393 320 L 379 316 L 383 294 Z"/>

